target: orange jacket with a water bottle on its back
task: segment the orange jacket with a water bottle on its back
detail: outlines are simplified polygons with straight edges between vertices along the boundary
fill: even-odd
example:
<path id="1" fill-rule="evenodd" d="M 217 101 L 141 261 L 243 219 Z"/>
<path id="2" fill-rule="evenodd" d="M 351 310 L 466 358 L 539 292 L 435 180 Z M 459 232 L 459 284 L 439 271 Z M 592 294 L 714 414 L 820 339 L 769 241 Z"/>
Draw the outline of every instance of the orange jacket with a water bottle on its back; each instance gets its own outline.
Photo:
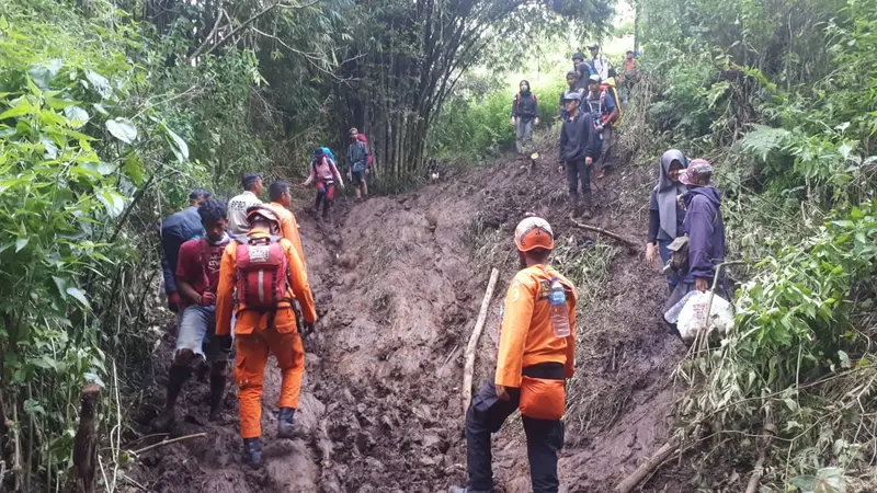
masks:
<path id="1" fill-rule="evenodd" d="M 555 337 L 548 293 L 551 278 L 567 287 L 570 335 Z M 521 387 L 524 367 L 560 363 L 572 378 L 576 360 L 576 287 L 550 265 L 534 265 L 519 272 L 505 295 L 500 330 L 496 385 Z"/>

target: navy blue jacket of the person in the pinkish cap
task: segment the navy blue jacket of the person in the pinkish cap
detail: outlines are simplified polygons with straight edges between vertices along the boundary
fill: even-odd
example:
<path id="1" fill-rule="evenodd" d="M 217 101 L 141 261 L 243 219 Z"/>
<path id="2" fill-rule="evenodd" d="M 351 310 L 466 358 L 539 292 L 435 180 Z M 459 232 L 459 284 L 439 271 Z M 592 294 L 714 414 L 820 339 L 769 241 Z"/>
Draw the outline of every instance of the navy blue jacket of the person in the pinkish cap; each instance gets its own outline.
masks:
<path id="1" fill-rule="evenodd" d="M 688 234 L 688 273 L 683 280 L 713 279 L 716 265 L 725 262 L 721 192 L 711 186 L 701 186 L 688 191 L 682 200 L 686 210 L 682 227 Z"/>

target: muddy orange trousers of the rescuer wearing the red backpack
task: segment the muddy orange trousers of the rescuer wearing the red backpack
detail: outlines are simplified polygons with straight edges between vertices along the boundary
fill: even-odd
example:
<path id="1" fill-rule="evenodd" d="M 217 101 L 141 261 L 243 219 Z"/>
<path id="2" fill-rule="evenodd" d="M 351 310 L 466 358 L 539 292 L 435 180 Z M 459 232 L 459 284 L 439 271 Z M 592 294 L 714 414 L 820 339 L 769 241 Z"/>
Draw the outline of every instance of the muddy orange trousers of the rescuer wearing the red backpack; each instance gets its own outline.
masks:
<path id="1" fill-rule="evenodd" d="M 305 347 L 298 331 L 281 333 L 273 326 L 258 328 L 250 334 L 238 334 L 235 344 L 240 435 L 242 438 L 255 438 L 262 435 L 262 380 L 269 352 L 277 358 L 283 377 L 277 405 L 298 409 L 298 394 L 305 374 Z"/>

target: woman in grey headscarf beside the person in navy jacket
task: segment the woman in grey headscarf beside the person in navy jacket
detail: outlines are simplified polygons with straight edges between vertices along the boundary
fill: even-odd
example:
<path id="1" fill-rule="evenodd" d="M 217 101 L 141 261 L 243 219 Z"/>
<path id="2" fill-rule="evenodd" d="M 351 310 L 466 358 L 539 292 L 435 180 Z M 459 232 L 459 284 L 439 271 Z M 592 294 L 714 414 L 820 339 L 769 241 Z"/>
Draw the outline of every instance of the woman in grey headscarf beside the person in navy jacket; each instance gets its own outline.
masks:
<path id="1" fill-rule="evenodd" d="M 680 181 L 680 173 L 687 165 L 688 160 L 677 149 L 670 149 L 661 156 L 658 184 L 651 191 L 649 205 L 649 241 L 646 243 L 646 262 L 649 265 L 654 263 L 658 254 L 665 265 L 670 261 L 668 246 L 684 234 L 682 221 L 685 219 L 685 209 L 677 198 L 687 191 Z M 676 287 L 679 276 L 675 272 L 668 272 L 667 283 L 670 285 L 670 290 Z"/>

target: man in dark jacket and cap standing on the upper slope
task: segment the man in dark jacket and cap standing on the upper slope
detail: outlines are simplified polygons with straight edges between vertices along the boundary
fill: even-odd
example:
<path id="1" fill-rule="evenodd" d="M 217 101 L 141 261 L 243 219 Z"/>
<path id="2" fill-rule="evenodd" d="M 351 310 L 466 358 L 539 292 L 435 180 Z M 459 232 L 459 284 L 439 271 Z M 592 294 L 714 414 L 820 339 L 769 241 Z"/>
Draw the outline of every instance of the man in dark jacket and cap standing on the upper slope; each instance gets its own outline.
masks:
<path id="1" fill-rule="evenodd" d="M 582 96 L 578 92 L 568 92 L 563 104 L 567 117 L 560 128 L 560 162 L 567 170 L 572 214 L 591 217 L 591 167 L 600 156 L 594 122 L 591 114 L 581 111 Z M 581 182 L 581 202 L 579 200 L 579 183 Z"/>

